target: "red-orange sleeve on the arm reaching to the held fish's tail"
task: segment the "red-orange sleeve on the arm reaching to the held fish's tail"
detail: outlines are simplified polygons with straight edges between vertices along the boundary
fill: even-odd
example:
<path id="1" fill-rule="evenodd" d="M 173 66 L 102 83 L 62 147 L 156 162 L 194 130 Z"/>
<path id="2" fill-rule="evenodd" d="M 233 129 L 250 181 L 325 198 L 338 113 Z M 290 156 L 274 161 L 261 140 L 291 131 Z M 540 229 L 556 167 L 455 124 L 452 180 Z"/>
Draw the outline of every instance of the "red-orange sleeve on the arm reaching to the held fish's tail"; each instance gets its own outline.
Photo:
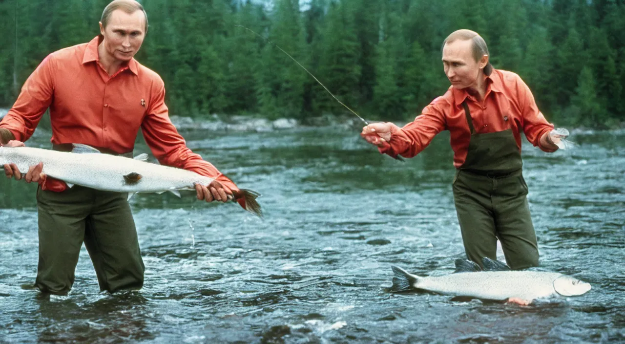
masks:
<path id="1" fill-rule="evenodd" d="M 169 119 L 169 110 L 165 104 L 164 83 L 162 80 L 159 81 L 154 85 L 148 111 L 141 123 L 143 137 L 154 157 L 161 164 L 214 178 L 232 191 L 238 190 L 234 182 L 219 172 L 215 166 L 187 148 L 183 136 L 178 133 Z"/>

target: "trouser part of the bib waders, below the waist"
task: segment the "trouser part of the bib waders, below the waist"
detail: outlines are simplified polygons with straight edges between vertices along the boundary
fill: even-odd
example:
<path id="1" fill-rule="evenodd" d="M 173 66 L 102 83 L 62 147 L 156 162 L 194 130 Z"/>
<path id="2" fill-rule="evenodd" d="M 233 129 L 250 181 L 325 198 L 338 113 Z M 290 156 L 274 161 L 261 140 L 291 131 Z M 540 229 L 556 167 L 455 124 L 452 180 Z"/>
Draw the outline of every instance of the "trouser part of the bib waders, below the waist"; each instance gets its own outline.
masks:
<path id="1" fill-rule="evenodd" d="M 536 233 L 521 170 L 491 178 L 459 169 L 453 190 L 469 260 L 482 265 L 482 257 L 496 259 L 498 238 L 513 270 L 538 265 Z"/>

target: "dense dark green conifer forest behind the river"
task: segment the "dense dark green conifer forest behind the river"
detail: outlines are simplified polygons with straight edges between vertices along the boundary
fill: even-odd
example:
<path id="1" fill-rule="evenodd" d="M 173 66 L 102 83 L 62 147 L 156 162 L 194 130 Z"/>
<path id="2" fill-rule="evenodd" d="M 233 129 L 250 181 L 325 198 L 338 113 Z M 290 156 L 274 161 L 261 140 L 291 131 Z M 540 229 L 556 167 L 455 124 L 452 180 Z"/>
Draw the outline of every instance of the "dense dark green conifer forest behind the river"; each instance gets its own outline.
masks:
<path id="1" fill-rule="evenodd" d="M 0 0 L 0 106 L 46 54 L 89 41 L 109 0 Z M 441 42 L 468 28 L 514 71 L 547 118 L 625 121 L 623 0 L 143 0 L 137 59 L 163 77 L 173 114 L 343 115 L 306 72 L 367 118 L 412 119 L 449 86 Z"/>

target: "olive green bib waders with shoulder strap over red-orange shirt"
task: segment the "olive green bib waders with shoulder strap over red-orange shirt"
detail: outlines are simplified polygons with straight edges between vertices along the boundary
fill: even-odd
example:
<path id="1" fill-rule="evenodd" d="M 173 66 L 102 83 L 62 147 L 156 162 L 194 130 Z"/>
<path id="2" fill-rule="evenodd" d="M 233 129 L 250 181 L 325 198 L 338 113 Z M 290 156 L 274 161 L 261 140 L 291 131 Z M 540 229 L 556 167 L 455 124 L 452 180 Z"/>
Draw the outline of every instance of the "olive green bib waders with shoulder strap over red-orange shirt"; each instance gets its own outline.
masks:
<path id="1" fill-rule="evenodd" d="M 483 257 L 496 259 L 499 239 L 512 269 L 537 266 L 536 233 L 512 129 L 476 134 L 469 107 L 462 106 L 471 141 L 466 160 L 456 171 L 453 190 L 467 257 L 479 265 Z"/>

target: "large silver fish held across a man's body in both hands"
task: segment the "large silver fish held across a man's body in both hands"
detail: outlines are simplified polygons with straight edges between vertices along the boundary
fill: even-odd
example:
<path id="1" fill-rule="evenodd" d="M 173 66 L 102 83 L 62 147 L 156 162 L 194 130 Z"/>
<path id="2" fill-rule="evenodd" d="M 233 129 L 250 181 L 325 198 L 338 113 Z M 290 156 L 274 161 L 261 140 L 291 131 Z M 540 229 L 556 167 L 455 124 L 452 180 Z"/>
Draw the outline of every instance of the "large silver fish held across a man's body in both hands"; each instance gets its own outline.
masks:
<path id="1" fill-rule="evenodd" d="M 74 144 L 72 152 L 51 151 L 30 147 L 0 147 L 0 166 L 15 163 L 21 173 L 29 166 L 43 163 L 43 173 L 62 180 L 71 188 L 74 185 L 96 190 L 129 193 L 163 193 L 178 190 L 195 190 L 195 184 L 209 185 L 213 178 L 186 169 L 146 163 L 148 154 L 124 158 L 102 154 L 91 146 Z M 258 193 L 239 190 L 235 198 L 244 198 L 246 210 L 262 216 L 256 198 Z"/>

